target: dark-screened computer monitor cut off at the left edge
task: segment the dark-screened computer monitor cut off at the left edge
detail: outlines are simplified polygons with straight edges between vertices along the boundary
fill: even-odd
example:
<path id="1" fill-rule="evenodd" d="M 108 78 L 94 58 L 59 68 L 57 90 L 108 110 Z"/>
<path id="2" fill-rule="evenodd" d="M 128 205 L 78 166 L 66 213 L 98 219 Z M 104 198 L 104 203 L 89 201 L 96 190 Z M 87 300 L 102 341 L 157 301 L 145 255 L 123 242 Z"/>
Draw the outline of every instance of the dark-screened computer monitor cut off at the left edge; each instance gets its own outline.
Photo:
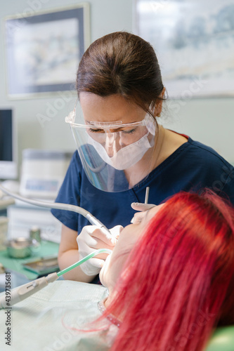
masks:
<path id="1" fill-rule="evenodd" d="M 0 108 L 0 180 L 18 177 L 17 149 L 13 110 Z"/>

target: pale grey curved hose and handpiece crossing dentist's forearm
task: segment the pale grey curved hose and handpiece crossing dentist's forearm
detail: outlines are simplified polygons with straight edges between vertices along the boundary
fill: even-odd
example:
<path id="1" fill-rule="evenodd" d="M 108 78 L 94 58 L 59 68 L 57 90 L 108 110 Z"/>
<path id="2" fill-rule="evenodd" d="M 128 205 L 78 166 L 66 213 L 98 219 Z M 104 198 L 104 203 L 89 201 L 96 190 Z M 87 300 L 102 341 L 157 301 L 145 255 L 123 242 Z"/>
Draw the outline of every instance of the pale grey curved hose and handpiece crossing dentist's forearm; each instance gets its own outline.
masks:
<path id="1" fill-rule="evenodd" d="M 22 197 L 18 194 L 15 194 L 14 192 L 10 192 L 8 189 L 3 187 L 1 184 L 0 184 L 0 190 L 5 192 L 6 194 L 10 195 L 11 197 L 14 197 L 15 199 L 18 199 L 20 201 L 27 202 L 28 204 L 32 204 L 35 206 L 41 206 L 41 207 L 47 207 L 47 208 L 57 208 L 59 210 L 66 210 L 66 211 L 72 211 L 72 212 L 79 213 L 82 216 L 84 216 L 85 218 L 87 218 L 87 220 L 89 220 L 89 223 L 91 223 L 92 225 L 97 225 L 99 228 L 101 228 L 105 232 L 105 234 L 108 234 L 108 236 L 112 235 L 110 230 L 108 230 L 108 228 L 105 227 L 105 225 L 103 225 L 103 223 L 101 223 L 100 220 L 98 220 L 89 211 L 86 211 L 82 207 L 70 205 L 70 204 L 60 204 L 60 203 L 56 203 L 56 202 L 46 202 L 46 201 L 38 201 L 38 200 L 34 200 L 34 199 L 27 199 L 27 197 Z"/>

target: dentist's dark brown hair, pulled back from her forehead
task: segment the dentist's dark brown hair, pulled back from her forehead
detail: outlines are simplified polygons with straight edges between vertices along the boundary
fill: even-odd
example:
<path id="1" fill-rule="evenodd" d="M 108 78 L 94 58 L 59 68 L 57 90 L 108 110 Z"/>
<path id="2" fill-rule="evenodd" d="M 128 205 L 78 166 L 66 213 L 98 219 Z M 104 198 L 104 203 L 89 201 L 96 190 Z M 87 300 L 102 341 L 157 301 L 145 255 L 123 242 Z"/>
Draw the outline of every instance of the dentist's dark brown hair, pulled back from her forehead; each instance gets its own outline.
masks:
<path id="1" fill-rule="evenodd" d="M 122 95 L 150 112 L 163 91 L 160 65 L 152 46 L 134 34 L 115 32 L 89 46 L 77 72 L 78 96 L 82 92 L 102 97 Z"/>

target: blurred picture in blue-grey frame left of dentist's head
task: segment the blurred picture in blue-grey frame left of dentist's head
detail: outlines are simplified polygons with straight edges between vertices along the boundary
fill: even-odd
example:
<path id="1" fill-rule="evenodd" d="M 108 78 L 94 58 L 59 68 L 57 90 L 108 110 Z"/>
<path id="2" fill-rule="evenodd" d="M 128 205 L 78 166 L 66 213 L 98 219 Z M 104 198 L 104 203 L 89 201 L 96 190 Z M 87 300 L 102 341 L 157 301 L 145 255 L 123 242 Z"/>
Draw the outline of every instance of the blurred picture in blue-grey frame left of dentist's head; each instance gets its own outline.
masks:
<path id="1" fill-rule="evenodd" d="M 5 18 L 7 91 L 11 99 L 75 90 L 90 44 L 89 4 Z"/>

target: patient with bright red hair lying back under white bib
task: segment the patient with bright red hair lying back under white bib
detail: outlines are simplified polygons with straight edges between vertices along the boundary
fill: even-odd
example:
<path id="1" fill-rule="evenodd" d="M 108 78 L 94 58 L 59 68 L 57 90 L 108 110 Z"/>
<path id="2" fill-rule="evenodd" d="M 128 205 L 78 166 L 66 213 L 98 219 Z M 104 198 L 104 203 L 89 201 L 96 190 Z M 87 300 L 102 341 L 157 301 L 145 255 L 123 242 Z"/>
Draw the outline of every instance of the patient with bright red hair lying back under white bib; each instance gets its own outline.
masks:
<path id="1" fill-rule="evenodd" d="M 105 260 L 103 286 L 57 281 L 12 307 L 11 350 L 202 351 L 216 326 L 234 324 L 228 202 L 181 192 L 133 222 Z"/>

